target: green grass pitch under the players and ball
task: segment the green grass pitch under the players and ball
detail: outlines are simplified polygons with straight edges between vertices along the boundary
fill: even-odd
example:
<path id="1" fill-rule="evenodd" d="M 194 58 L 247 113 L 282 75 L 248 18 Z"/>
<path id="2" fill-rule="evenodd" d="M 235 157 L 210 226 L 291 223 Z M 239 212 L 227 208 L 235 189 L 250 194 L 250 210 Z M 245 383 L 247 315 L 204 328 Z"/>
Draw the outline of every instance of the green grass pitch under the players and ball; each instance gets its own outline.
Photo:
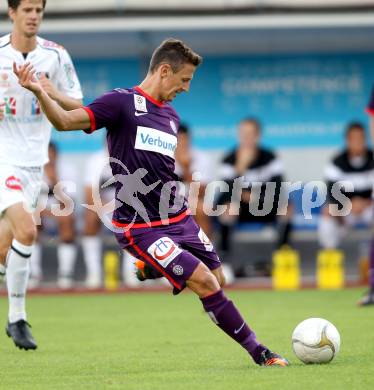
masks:
<path id="1" fill-rule="evenodd" d="M 1 331 L 0 389 L 342 390 L 374 389 L 374 307 L 355 306 L 362 289 L 229 291 L 258 339 L 289 368 L 263 368 L 223 334 L 190 293 L 33 296 L 36 352 Z M 0 299 L 5 324 L 7 302 Z M 304 365 L 291 349 L 301 320 L 323 317 L 342 345 L 327 365 Z"/>

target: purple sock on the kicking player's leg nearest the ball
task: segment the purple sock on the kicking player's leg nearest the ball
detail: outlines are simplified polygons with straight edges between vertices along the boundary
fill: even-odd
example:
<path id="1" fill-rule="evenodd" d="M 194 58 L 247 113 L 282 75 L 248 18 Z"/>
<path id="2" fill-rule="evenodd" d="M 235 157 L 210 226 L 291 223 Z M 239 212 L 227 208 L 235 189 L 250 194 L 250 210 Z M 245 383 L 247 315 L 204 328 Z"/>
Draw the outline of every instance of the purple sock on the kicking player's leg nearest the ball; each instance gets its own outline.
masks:
<path id="1" fill-rule="evenodd" d="M 212 321 L 246 349 L 253 360 L 258 363 L 261 353 L 267 348 L 256 340 L 255 333 L 249 328 L 238 309 L 227 299 L 223 291 L 219 290 L 200 299 Z"/>

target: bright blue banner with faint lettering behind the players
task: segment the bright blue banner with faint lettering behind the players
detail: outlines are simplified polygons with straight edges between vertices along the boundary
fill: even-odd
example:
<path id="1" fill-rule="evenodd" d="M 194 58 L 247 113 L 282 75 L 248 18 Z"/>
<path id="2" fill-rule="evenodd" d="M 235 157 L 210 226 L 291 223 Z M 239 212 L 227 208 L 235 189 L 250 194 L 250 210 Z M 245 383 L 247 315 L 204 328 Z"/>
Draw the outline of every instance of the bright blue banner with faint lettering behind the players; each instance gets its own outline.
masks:
<path id="1" fill-rule="evenodd" d="M 144 77 L 137 60 L 75 63 L 85 102 Z M 248 116 L 262 122 L 269 147 L 340 146 L 347 122 L 367 123 L 373 69 L 374 54 L 207 57 L 190 92 L 173 104 L 199 148 L 232 147 L 238 121 Z M 97 149 L 103 136 L 54 133 L 64 151 Z"/>

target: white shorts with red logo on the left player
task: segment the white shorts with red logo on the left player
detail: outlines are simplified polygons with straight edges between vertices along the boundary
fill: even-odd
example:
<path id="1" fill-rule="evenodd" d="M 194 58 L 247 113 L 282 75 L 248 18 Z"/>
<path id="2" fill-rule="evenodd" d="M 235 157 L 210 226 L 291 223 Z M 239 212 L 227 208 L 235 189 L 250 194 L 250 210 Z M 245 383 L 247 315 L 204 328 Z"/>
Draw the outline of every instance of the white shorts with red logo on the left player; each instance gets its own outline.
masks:
<path id="1" fill-rule="evenodd" d="M 0 216 L 10 206 L 23 203 L 33 212 L 43 184 L 43 167 L 0 164 Z"/>

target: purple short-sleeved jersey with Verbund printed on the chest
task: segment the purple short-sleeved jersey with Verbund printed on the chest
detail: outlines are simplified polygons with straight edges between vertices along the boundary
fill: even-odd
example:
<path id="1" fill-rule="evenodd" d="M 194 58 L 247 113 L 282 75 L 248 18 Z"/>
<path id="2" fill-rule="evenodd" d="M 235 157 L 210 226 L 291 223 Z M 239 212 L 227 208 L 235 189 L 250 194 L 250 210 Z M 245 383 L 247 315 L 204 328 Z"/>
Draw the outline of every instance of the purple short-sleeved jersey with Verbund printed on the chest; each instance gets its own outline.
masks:
<path id="1" fill-rule="evenodd" d="M 106 93 L 85 110 L 90 132 L 107 129 L 116 179 L 114 223 L 149 223 L 185 212 L 186 199 L 174 173 L 179 117 L 171 105 L 135 87 Z"/>

